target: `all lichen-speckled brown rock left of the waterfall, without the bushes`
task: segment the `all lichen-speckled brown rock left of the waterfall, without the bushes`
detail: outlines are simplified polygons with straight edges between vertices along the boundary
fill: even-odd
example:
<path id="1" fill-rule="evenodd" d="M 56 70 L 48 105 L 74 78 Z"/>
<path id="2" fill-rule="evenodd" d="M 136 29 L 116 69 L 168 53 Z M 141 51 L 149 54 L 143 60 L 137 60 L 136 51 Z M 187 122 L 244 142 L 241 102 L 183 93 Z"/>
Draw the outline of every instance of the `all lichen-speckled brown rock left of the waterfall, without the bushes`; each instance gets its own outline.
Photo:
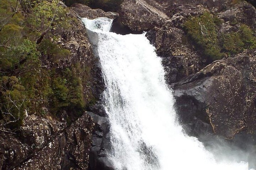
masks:
<path id="1" fill-rule="evenodd" d="M 44 65 L 58 71 L 79 63 L 83 70 L 79 74 L 81 95 L 84 102 L 89 103 L 99 99 L 104 89 L 101 70 L 84 24 L 72 9 L 67 9 L 66 17 L 69 18 L 68 26 L 51 30 L 54 40 L 47 36 L 44 39 L 51 39 L 68 49 L 70 55 L 55 63 L 43 56 L 46 58 Z M 84 113 L 77 119 L 78 114 L 70 110 L 59 113 L 59 117 L 47 115 L 28 115 L 13 133 L 0 132 L 0 169 L 88 169 L 94 129 L 91 116 Z"/>

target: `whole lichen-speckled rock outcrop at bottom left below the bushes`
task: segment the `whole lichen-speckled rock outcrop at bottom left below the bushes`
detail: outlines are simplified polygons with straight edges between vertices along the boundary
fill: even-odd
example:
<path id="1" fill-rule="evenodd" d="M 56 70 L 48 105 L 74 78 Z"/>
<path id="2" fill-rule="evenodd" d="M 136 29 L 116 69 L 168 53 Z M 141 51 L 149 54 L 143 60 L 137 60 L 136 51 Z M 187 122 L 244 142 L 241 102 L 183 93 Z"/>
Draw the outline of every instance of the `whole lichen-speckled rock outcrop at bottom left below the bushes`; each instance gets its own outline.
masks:
<path id="1" fill-rule="evenodd" d="M 87 169 L 93 128 L 87 113 L 68 128 L 30 115 L 15 134 L 1 133 L 1 169 Z"/>

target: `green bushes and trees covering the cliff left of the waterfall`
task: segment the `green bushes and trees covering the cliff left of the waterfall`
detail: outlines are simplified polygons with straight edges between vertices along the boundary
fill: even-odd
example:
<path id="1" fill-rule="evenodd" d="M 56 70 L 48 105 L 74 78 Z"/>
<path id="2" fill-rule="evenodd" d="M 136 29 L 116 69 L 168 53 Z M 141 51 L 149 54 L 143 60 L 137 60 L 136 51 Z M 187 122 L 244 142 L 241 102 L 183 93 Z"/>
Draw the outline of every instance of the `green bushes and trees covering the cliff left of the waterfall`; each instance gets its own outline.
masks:
<path id="1" fill-rule="evenodd" d="M 80 113 L 91 101 L 83 92 L 90 69 L 57 68 L 71 55 L 52 34 L 69 28 L 66 13 L 58 0 L 0 1 L 1 131 L 22 125 L 26 114 Z"/>

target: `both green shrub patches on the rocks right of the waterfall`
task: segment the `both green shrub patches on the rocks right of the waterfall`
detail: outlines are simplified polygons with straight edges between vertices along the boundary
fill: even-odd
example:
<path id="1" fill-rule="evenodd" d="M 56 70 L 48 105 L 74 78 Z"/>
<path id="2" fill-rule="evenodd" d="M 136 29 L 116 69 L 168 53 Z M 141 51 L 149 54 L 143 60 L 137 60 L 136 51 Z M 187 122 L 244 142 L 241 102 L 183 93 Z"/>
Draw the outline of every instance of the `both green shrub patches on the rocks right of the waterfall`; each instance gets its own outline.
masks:
<path id="1" fill-rule="evenodd" d="M 226 35 L 218 35 L 221 20 L 213 14 L 205 12 L 199 17 L 190 17 L 184 23 L 187 35 L 202 49 L 210 60 L 218 60 L 228 54 L 237 54 L 248 48 L 256 48 L 254 32 L 245 24 L 238 31 Z"/>

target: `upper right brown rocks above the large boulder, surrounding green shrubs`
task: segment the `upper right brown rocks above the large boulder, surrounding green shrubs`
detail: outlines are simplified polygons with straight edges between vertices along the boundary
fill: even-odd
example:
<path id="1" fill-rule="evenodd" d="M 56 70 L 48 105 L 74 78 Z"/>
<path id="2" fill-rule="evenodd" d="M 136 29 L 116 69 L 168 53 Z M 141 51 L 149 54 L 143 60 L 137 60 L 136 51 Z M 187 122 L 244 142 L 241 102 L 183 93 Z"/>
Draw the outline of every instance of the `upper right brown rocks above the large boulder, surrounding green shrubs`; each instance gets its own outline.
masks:
<path id="1" fill-rule="evenodd" d="M 166 79 L 172 83 L 212 62 L 205 52 L 207 50 L 187 36 L 183 25 L 190 17 L 199 17 L 205 12 L 216 16 L 213 19 L 219 23 L 212 27 L 216 27 L 215 36 L 219 40 L 223 39 L 223 35 L 238 31 L 241 24 L 255 28 L 255 8 L 245 1 L 127 0 L 120 7 L 119 18 L 133 31 L 149 30 L 146 36 L 155 46 L 157 54 L 164 57 Z M 222 58 L 221 55 L 224 57 L 224 54 L 219 55 L 219 58 Z"/>

